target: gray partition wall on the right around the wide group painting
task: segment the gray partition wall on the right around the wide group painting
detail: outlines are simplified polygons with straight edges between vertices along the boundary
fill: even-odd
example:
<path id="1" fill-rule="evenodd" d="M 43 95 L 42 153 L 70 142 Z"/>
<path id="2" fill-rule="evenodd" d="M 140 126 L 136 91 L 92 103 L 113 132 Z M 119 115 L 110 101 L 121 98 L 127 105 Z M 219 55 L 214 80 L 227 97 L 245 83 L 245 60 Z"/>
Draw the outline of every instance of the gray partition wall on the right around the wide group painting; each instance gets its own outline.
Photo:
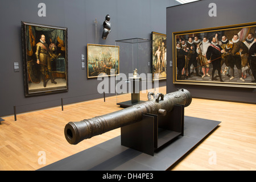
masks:
<path id="1" fill-rule="evenodd" d="M 217 16 L 209 16 L 209 4 L 216 3 Z M 201 0 L 167 8 L 167 62 L 172 61 L 172 32 L 198 30 L 255 22 L 254 0 Z M 167 92 L 188 89 L 193 97 L 256 103 L 256 90 L 225 86 L 173 84 L 172 68 L 167 69 Z M 210 108 L 209 108 L 210 109 Z M 241 108 L 242 109 L 242 108 Z"/>

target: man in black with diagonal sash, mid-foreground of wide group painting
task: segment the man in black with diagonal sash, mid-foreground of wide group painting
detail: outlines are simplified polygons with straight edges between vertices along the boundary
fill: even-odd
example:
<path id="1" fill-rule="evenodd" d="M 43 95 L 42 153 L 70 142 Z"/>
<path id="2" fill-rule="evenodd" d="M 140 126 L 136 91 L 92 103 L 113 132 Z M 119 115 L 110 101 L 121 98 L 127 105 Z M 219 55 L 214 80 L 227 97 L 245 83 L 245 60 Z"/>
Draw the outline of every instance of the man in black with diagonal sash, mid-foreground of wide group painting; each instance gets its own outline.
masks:
<path id="1" fill-rule="evenodd" d="M 223 82 L 221 78 L 221 54 L 224 53 L 224 49 L 218 45 L 216 38 L 212 39 L 212 44 L 207 49 L 207 60 L 208 63 L 212 63 L 213 69 L 212 69 L 212 80 L 217 80 L 217 78 L 214 78 L 214 72 L 218 71 L 218 76 L 220 76 L 220 81 Z"/>

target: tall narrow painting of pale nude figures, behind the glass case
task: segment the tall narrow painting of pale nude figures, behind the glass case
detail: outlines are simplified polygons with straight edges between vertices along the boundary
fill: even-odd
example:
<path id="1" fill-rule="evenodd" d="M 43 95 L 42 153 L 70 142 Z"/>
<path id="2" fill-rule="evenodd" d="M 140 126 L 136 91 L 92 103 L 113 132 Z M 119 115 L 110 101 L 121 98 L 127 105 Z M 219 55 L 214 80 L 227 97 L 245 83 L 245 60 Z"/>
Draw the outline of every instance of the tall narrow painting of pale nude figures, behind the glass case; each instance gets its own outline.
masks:
<path id="1" fill-rule="evenodd" d="M 167 54 L 166 35 L 157 32 L 151 33 L 152 37 L 152 80 L 166 79 Z"/>

